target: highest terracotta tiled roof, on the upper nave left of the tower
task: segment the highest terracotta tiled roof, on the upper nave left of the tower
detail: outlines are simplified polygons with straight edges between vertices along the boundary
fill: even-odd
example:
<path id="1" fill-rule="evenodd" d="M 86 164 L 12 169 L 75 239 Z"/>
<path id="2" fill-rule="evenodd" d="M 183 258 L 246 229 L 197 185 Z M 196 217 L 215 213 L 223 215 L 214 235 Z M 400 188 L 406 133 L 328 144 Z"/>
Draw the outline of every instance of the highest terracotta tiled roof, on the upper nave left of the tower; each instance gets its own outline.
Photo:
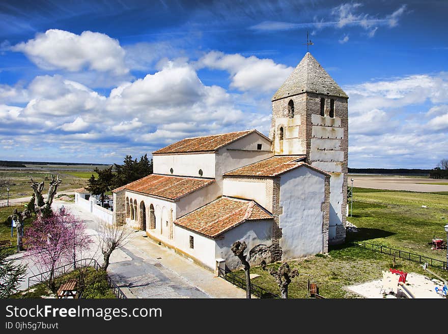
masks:
<path id="1" fill-rule="evenodd" d="M 231 132 L 206 137 L 185 138 L 174 144 L 160 148 L 153 152 L 153 154 L 214 151 L 219 147 L 230 144 L 253 132 L 257 132 L 257 130 Z"/>

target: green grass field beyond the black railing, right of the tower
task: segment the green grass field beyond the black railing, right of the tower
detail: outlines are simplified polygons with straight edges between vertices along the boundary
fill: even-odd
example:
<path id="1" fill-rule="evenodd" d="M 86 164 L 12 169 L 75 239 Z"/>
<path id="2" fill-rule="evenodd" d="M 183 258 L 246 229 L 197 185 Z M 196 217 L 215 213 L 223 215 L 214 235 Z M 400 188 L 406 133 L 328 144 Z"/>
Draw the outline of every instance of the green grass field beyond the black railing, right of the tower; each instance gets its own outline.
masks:
<path id="1" fill-rule="evenodd" d="M 446 195 L 360 188 L 354 188 L 353 193 L 353 217 L 347 220 L 359 228 L 359 233 L 349 234 L 349 240 L 367 240 L 446 259 L 446 252 L 431 250 L 434 236 L 446 238 Z"/>

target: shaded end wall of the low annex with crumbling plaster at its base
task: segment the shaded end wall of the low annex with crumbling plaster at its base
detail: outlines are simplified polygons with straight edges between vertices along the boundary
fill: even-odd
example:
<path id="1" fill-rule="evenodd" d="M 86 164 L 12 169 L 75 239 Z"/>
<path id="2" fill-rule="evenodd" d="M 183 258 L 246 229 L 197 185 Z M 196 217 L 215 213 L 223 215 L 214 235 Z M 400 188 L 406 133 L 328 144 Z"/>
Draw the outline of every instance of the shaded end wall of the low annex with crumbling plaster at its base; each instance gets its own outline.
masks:
<path id="1" fill-rule="evenodd" d="M 225 259 L 229 269 L 241 267 L 241 261 L 231 250 L 232 244 L 237 240 L 246 242 L 247 257 L 257 245 L 271 246 L 272 220 L 247 221 L 224 233 L 222 239 L 216 239 L 216 257 Z"/>

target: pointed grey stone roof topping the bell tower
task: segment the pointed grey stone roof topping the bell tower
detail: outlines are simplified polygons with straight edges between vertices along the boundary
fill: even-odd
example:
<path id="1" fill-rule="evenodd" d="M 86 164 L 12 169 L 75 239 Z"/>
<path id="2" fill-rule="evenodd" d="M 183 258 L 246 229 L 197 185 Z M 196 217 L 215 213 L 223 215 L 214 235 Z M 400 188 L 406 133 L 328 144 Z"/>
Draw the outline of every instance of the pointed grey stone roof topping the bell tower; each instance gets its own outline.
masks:
<path id="1" fill-rule="evenodd" d="M 305 92 L 348 98 L 310 52 L 306 52 L 299 65 L 278 88 L 272 101 Z"/>

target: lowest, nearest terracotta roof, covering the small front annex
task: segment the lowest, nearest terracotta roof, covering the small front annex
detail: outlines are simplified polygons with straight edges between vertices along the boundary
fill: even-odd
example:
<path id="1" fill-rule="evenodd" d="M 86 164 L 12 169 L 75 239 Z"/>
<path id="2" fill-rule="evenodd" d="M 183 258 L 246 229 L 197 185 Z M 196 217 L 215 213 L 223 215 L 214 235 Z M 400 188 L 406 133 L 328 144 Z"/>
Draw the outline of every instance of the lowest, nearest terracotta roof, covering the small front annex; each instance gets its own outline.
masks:
<path id="1" fill-rule="evenodd" d="M 247 220 L 270 218 L 272 215 L 252 200 L 221 197 L 178 218 L 174 223 L 215 238 Z"/>

